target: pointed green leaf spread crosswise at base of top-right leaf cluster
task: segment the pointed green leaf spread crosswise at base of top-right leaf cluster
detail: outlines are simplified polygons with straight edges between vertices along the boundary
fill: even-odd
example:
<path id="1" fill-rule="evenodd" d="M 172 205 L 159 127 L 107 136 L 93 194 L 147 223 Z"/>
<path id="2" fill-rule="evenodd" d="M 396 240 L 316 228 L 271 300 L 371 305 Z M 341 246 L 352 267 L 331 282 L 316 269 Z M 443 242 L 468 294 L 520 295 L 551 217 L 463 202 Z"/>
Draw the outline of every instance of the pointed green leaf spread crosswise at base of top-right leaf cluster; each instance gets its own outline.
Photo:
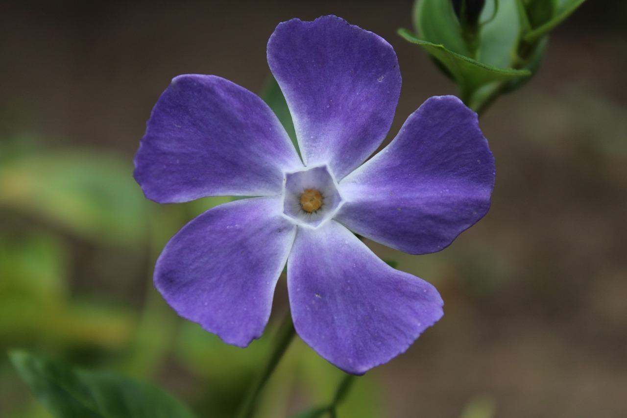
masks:
<path id="1" fill-rule="evenodd" d="M 519 77 L 527 77 L 531 74 L 529 70 L 492 67 L 491 65 L 472 60 L 467 56 L 446 49 L 443 45 L 420 40 L 407 29 L 399 29 L 399 35 L 410 42 L 422 46 L 430 55 L 440 60 L 453 78 L 455 78 L 461 90 L 461 99 L 466 104 L 468 104 L 467 100 L 470 100 L 470 95 L 483 85 L 510 81 Z"/>

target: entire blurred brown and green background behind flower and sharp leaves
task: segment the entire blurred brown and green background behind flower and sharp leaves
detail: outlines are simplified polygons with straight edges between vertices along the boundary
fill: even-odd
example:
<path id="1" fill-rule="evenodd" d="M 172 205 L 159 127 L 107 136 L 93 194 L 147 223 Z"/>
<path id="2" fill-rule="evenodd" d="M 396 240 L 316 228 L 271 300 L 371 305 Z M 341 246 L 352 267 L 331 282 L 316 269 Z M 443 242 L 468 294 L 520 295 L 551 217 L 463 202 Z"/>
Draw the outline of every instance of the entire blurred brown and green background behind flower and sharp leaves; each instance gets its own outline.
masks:
<path id="1" fill-rule="evenodd" d="M 0 3 L 0 348 L 150 380 L 199 416 L 230 416 L 287 308 L 241 350 L 176 317 L 152 265 L 221 198 L 144 199 L 132 159 L 172 77 L 253 92 L 280 21 L 337 14 L 386 38 L 401 99 L 388 141 L 431 95 L 456 94 L 417 45 L 413 2 Z M 492 208 L 438 254 L 369 243 L 435 284 L 445 316 L 358 378 L 344 417 L 627 416 L 627 6 L 587 1 L 540 72 L 480 120 L 497 163 Z M 268 338 L 270 337 L 270 338 Z M 327 402 L 342 373 L 295 341 L 260 417 Z M 46 417 L 5 354 L 0 416 Z"/>

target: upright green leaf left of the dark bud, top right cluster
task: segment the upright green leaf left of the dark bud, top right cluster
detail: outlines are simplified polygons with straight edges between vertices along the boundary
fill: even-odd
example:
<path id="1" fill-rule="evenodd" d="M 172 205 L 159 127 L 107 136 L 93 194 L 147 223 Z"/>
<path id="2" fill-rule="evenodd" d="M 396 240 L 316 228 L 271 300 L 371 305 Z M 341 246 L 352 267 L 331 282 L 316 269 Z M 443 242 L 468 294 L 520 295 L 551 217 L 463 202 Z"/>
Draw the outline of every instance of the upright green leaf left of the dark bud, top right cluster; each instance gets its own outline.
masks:
<path id="1" fill-rule="evenodd" d="M 416 0 L 413 23 L 422 40 L 445 45 L 449 51 L 470 56 L 450 1 Z"/>

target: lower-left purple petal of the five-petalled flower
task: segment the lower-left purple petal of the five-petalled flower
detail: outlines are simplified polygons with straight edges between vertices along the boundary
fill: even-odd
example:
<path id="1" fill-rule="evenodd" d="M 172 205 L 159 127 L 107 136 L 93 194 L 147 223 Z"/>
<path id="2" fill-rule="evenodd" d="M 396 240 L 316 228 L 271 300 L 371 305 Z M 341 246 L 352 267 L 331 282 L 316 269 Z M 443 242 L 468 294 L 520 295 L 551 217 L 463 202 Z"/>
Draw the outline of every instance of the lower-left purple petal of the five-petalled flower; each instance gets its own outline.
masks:
<path id="1" fill-rule="evenodd" d="M 245 347 L 261 336 L 296 227 L 279 196 L 216 206 L 167 243 L 155 287 L 183 318 Z"/>

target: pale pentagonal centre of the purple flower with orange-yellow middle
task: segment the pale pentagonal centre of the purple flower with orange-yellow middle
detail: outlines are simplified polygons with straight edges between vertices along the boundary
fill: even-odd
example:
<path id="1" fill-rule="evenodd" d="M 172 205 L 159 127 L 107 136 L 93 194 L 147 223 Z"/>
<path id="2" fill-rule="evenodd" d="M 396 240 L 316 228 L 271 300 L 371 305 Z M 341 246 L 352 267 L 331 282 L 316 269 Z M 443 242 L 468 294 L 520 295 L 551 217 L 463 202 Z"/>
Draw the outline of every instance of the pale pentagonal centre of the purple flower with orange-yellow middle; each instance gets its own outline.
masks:
<path id="1" fill-rule="evenodd" d="M 285 174 L 283 213 L 298 225 L 315 228 L 342 205 L 337 183 L 326 166 Z"/>

